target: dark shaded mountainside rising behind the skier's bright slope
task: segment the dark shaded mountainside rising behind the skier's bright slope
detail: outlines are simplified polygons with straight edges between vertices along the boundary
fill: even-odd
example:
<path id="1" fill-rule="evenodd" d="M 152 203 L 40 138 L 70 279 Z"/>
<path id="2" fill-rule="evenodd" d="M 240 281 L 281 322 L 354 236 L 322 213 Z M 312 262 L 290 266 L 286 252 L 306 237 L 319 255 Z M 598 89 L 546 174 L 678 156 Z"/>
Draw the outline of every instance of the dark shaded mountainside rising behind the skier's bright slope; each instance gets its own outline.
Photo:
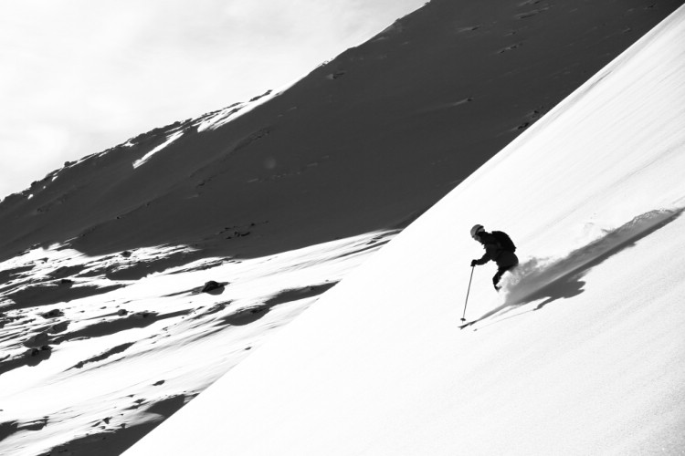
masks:
<path id="1" fill-rule="evenodd" d="M 5 198 L 3 257 L 57 242 L 255 257 L 404 227 L 677 5 L 431 2 L 268 101 L 153 130 Z M 216 236 L 251 223 L 258 243 Z"/>

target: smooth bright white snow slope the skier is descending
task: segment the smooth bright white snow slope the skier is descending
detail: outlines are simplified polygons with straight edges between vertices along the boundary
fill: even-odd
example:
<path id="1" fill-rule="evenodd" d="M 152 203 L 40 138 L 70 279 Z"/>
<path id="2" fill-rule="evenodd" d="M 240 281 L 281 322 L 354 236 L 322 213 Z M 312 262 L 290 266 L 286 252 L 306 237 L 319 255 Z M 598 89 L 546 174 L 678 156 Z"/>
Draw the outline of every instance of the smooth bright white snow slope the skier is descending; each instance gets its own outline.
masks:
<path id="1" fill-rule="evenodd" d="M 127 456 L 685 451 L 684 42 L 680 7 Z M 458 330 L 473 223 L 522 266 Z"/>

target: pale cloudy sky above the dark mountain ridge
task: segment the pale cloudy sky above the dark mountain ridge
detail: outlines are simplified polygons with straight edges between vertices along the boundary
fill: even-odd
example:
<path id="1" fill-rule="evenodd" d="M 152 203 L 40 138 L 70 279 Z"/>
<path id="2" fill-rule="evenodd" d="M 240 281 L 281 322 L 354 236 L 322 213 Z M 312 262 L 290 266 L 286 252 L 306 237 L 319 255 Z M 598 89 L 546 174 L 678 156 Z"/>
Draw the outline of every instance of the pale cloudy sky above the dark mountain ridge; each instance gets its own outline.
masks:
<path id="1" fill-rule="evenodd" d="M 424 0 L 0 5 L 0 198 L 91 153 L 305 76 Z"/>

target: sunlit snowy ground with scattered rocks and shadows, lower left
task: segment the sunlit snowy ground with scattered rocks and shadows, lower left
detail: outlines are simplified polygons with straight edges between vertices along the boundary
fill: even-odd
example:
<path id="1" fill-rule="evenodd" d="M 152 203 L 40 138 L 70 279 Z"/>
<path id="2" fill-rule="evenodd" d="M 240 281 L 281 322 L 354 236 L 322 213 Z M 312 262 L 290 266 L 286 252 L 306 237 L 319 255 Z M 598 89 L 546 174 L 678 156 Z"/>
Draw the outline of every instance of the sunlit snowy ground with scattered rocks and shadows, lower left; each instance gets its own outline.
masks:
<path id="1" fill-rule="evenodd" d="M 394 235 L 243 261 L 190 261 L 184 246 L 87 257 L 60 245 L 5 261 L 0 453 L 92 454 L 106 440 L 118 454 Z M 224 282 L 202 293 L 210 280 Z"/>

